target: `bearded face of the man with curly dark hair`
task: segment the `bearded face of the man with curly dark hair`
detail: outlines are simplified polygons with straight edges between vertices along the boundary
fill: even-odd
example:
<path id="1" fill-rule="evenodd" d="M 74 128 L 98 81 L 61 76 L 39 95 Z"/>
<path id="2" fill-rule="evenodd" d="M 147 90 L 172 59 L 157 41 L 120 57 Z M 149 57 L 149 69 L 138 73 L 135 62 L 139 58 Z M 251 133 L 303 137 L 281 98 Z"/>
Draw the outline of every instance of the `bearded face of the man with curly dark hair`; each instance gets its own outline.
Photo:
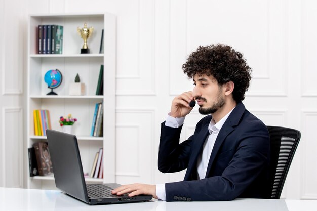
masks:
<path id="1" fill-rule="evenodd" d="M 217 80 L 213 76 L 194 75 L 193 96 L 196 98 L 197 104 L 200 106 L 198 111 L 203 114 L 215 113 L 225 104 L 223 86 L 219 86 Z"/>

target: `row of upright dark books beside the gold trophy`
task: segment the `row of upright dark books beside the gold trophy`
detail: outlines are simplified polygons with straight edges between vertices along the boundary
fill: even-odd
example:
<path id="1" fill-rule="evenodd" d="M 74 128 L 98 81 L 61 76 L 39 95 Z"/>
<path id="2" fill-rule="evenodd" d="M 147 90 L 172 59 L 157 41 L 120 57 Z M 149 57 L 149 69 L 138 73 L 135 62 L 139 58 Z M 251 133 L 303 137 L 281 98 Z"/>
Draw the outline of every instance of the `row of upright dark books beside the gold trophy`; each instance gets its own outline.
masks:
<path id="1" fill-rule="evenodd" d="M 63 26 L 38 25 L 38 54 L 63 53 Z"/>

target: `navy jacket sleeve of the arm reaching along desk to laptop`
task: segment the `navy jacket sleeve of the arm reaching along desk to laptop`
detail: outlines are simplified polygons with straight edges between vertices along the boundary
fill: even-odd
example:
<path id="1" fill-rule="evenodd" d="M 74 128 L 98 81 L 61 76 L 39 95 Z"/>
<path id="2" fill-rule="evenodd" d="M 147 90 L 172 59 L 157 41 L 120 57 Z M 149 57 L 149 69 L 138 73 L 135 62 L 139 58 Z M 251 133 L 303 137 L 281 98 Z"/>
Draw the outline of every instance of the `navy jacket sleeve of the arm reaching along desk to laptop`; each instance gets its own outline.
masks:
<path id="1" fill-rule="evenodd" d="M 179 197 L 192 201 L 232 200 L 251 186 L 268 165 L 267 129 L 261 122 L 253 123 L 234 139 L 237 140 L 236 151 L 221 175 L 166 183 L 166 201 L 175 201 Z"/>

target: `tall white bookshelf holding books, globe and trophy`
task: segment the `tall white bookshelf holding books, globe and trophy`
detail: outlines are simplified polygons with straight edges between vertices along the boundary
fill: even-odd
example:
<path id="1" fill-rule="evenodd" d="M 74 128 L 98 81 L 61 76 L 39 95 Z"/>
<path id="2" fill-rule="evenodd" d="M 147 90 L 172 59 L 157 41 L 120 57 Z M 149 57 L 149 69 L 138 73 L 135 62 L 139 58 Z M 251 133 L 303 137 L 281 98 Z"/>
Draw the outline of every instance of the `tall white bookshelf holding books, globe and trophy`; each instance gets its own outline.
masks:
<path id="1" fill-rule="evenodd" d="M 90 54 L 80 54 L 83 39 L 77 33 L 77 27 L 93 26 L 93 35 L 88 38 Z M 60 116 L 72 114 L 77 118 L 73 134 L 77 136 L 80 147 L 84 173 L 90 174 L 95 153 L 104 149 L 103 179 L 86 178 L 87 182 L 114 181 L 114 146 L 115 146 L 115 55 L 116 23 L 112 14 L 49 14 L 30 15 L 28 25 L 28 71 L 27 71 L 27 144 L 46 141 L 46 136 L 35 136 L 33 110 L 50 111 L 53 130 L 61 131 L 58 123 Z M 62 25 L 63 54 L 37 54 L 38 25 Z M 104 29 L 104 53 L 99 54 L 101 31 Z M 104 95 L 96 96 L 100 65 L 104 65 Z M 50 92 L 44 81 L 45 73 L 50 69 L 59 69 L 63 76 L 61 85 L 54 89 L 58 95 L 46 95 Z M 82 96 L 69 95 L 69 85 L 74 82 L 76 74 L 85 83 L 86 93 Z M 94 116 L 95 104 L 104 103 L 103 137 L 91 137 L 90 131 Z M 27 153 L 27 148 L 25 152 Z M 28 160 L 25 162 L 28 169 Z M 54 170 L 53 170 L 54 171 Z M 47 188 L 54 176 L 29 177 L 28 188 Z M 52 187 L 54 188 L 54 187 Z"/>

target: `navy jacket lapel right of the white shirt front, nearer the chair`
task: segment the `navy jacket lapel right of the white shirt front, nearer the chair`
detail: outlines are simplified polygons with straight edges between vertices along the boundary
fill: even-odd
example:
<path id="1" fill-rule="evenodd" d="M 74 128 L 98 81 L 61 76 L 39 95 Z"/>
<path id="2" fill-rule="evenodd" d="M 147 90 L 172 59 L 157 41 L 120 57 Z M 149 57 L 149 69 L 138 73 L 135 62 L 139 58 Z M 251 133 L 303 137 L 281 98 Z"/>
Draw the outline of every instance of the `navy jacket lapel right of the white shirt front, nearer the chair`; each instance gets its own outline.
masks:
<path id="1" fill-rule="evenodd" d="M 213 150 L 210 155 L 210 159 L 208 162 L 208 167 L 206 171 L 205 177 L 208 176 L 211 166 L 216 158 L 216 155 L 218 154 L 218 151 L 223 143 L 223 141 L 226 139 L 226 137 L 234 131 L 234 126 L 239 124 L 239 121 L 245 111 L 245 106 L 242 102 L 237 103 L 231 114 L 229 115 L 228 119 L 225 121 L 225 123 L 222 125 L 221 130 L 219 131 L 219 134 L 217 136 L 216 142 L 214 144 Z"/>

